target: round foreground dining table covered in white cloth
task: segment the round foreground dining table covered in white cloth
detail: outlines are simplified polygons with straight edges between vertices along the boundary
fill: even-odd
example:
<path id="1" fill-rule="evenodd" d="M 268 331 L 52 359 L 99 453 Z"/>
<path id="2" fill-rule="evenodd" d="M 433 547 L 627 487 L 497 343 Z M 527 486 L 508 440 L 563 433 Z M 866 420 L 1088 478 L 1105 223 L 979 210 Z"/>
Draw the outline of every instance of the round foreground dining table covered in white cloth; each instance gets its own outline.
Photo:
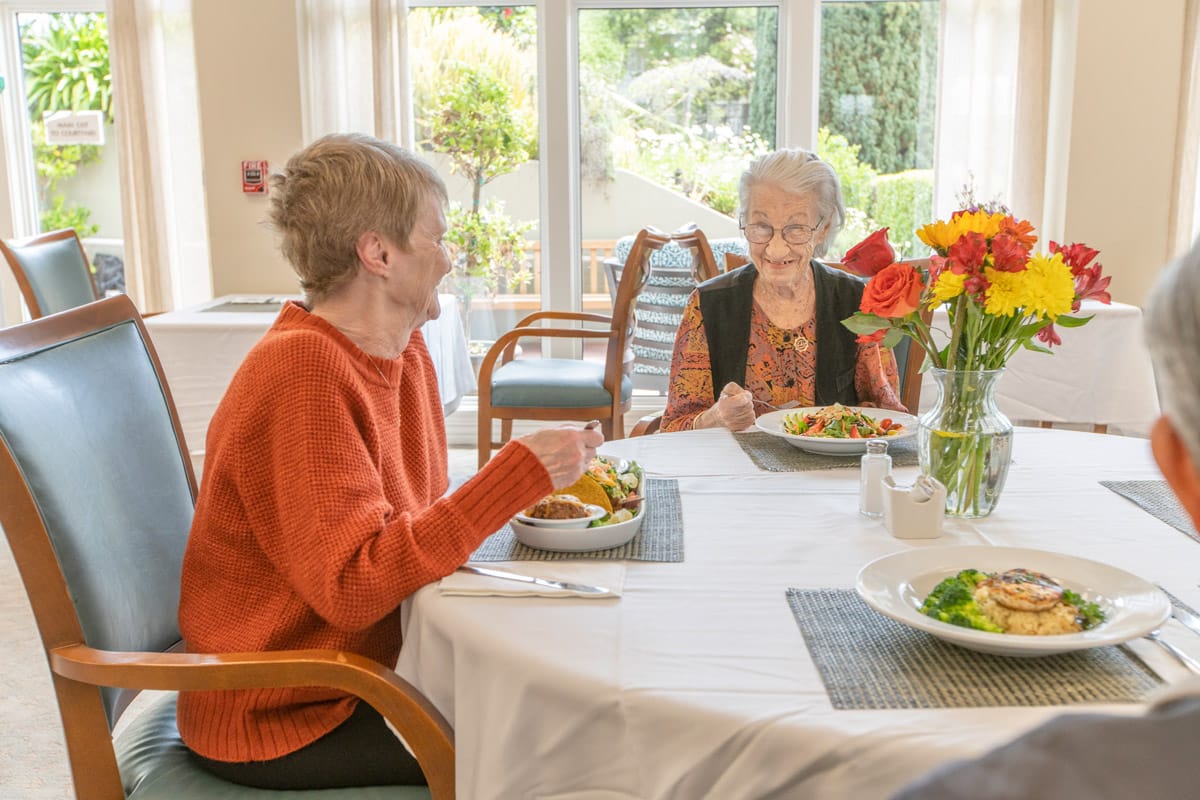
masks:
<path id="1" fill-rule="evenodd" d="M 898 553 L 940 563 L 958 546 L 1013 547 L 1117 567 L 1200 607 L 1195 530 L 1177 507 L 1117 491 L 1150 487 L 1170 506 L 1146 439 L 1019 427 L 990 516 L 901 540 L 859 513 L 857 457 L 772 462 L 756 456 L 778 444 L 763 435 L 715 428 L 601 446 L 641 465 L 653 489 L 638 536 L 656 524 L 655 536 L 674 537 L 649 558 L 511 542 L 472 557 L 602 579 L 610 596 L 492 593 L 487 578 L 456 573 L 406 600 L 397 670 L 454 726 L 460 796 L 887 798 L 1067 711 L 1141 714 L 1190 678 L 1146 638 L 1066 656 L 976 654 L 854 591 L 865 566 Z M 918 471 L 913 452 L 896 452 L 894 481 Z M 472 581 L 479 590 L 463 591 Z M 1103 597 L 1105 587 L 1084 590 Z M 1162 636 L 1200 657 L 1200 636 L 1176 621 Z"/>

